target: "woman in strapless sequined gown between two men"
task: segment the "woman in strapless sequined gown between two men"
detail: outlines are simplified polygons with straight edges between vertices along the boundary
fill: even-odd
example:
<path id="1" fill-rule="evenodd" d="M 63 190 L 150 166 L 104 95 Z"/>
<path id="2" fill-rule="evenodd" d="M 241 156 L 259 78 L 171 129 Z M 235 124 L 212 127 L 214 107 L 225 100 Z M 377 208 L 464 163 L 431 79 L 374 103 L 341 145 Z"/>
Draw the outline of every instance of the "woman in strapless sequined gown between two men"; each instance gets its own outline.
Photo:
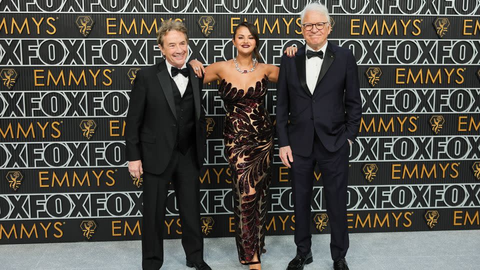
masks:
<path id="1" fill-rule="evenodd" d="M 253 24 L 240 23 L 233 32 L 232 43 L 238 51 L 234 59 L 205 68 L 197 60 L 189 64 L 198 76 L 204 75 L 203 83 L 221 80 L 218 95 L 226 110 L 223 142 L 232 172 L 238 258 L 250 269 L 260 269 L 273 159 L 273 124 L 263 100 L 268 81 L 277 81 L 279 69 L 255 62 L 260 55 Z"/>

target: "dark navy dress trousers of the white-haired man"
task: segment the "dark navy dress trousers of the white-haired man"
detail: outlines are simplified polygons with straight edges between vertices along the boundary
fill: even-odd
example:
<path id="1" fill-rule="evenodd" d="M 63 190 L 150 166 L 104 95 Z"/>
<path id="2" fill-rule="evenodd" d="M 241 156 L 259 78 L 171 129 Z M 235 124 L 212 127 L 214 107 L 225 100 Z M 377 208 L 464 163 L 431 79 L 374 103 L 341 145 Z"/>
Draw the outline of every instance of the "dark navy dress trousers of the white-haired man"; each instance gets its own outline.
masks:
<path id="1" fill-rule="evenodd" d="M 313 189 L 313 170 L 318 164 L 323 180 L 326 212 L 330 226 L 330 252 L 335 261 L 344 258 L 348 249 L 346 198 L 348 181 L 349 144 L 345 141 L 335 152 L 329 152 L 315 133 L 310 156 L 293 154 L 291 187 L 295 212 L 295 244 L 297 252 L 306 255 L 311 247 L 310 203 Z"/>

